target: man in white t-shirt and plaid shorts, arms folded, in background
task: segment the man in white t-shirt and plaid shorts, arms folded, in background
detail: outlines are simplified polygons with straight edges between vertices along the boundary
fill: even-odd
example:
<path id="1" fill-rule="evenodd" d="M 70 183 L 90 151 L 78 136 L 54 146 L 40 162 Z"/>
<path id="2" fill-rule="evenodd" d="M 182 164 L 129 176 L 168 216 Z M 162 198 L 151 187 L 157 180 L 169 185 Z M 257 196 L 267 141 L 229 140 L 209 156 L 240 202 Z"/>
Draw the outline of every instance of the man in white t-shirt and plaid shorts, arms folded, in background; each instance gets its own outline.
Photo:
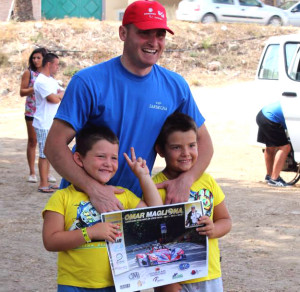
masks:
<path id="1" fill-rule="evenodd" d="M 53 78 L 59 68 L 58 56 L 48 53 L 43 58 L 42 70 L 34 83 L 36 98 L 36 112 L 33 119 L 33 127 L 39 144 L 39 174 L 40 184 L 38 191 L 53 193 L 54 189 L 48 183 L 50 164 L 44 154 L 44 147 L 53 118 L 58 105 L 63 98 L 63 88 Z"/>

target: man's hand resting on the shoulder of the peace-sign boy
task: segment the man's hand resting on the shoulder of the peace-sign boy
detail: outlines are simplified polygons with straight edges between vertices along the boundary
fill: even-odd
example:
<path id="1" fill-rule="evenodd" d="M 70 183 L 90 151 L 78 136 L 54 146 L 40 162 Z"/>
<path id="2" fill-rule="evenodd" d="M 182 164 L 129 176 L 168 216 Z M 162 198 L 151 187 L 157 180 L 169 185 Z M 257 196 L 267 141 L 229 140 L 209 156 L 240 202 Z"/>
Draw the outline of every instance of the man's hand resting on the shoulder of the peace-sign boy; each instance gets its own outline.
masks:
<path id="1" fill-rule="evenodd" d="M 115 194 L 121 194 L 124 190 L 118 189 L 110 185 L 100 185 L 89 192 L 92 205 L 96 208 L 99 213 L 119 211 L 123 210 L 124 207 L 121 202 L 115 197 Z"/>

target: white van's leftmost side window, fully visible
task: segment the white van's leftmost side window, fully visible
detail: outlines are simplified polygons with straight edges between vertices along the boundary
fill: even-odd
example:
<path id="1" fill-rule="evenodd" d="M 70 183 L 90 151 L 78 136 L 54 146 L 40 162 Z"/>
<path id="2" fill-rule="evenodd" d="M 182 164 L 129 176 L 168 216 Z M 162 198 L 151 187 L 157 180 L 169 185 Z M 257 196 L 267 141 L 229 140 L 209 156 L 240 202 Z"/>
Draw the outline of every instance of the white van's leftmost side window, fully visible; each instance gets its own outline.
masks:
<path id="1" fill-rule="evenodd" d="M 279 45 L 269 45 L 258 72 L 259 79 L 278 79 Z"/>

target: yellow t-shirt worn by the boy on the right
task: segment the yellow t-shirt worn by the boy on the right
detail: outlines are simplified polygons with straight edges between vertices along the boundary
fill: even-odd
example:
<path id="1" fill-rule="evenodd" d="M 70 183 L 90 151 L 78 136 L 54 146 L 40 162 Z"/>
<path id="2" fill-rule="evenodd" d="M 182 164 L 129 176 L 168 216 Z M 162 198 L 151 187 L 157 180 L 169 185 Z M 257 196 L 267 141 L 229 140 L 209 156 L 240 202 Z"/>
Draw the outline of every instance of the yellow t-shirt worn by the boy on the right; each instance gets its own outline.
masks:
<path id="1" fill-rule="evenodd" d="M 168 180 L 162 173 L 158 173 L 153 177 L 155 184 Z M 158 190 L 163 202 L 166 199 L 165 189 Z M 205 215 L 213 219 L 214 207 L 220 204 L 225 195 L 216 181 L 207 173 L 204 173 L 197 181 L 195 181 L 190 190 L 189 201 L 202 200 Z M 221 277 L 220 250 L 218 239 L 208 240 L 208 275 L 203 278 L 185 281 L 183 283 L 196 283 L 201 281 L 212 280 Z"/>

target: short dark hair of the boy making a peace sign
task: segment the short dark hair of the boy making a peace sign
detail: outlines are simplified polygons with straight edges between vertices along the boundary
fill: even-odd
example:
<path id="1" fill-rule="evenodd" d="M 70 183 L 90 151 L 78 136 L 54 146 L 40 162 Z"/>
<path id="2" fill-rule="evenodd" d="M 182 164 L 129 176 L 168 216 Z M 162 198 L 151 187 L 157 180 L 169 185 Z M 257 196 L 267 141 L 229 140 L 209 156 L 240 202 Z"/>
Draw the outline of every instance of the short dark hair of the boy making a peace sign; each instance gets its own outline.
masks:
<path id="1" fill-rule="evenodd" d="M 83 157 L 100 140 L 107 140 L 119 145 L 119 139 L 115 133 L 105 126 L 88 126 L 81 129 L 76 135 L 76 152 Z"/>

